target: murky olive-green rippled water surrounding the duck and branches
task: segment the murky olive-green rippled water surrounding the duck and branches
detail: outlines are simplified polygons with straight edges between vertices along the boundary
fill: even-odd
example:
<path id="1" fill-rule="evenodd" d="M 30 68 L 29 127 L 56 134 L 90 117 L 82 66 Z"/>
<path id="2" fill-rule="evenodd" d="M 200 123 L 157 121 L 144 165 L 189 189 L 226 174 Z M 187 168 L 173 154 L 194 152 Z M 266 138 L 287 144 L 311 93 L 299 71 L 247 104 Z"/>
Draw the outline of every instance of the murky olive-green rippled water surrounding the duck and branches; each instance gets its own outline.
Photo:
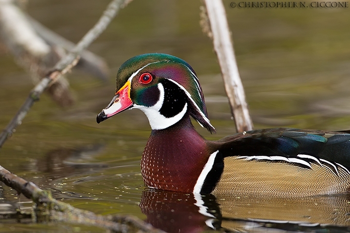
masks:
<path id="1" fill-rule="evenodd" d="M 254 127 L 350 129 L 350 9 L 243 9 L 231 8 L 230 2 L 225 0 L 224 4 Z M 107 0 L 32 0 L 27 10 L 56 33 L 77 42 L 107 4 Z M 103 215 L 132 214 L 169 232 L 178 230 L 179 225 L 182 232 L 210 230 L 205 222 L 211 218 L 198 212 L 196 197 L 145 190 L 140 156 L 150 127 L 142 112 L 126 111 L 96 123 L 96 115 L 114 94 L 119 66 L 137 54 L 163 52 L 186 60 L 198 74 L 209 118 L 218 133 L 211 135 L 194 123 L 198 131 L 212 140 L 235 133 L 211 41 L 199 27 L 200 4 L 188 0 L 131 2 L 90 46 L 109 65 L 109 82 L 78 71 L 69 74 L 74 105 L 60 108 L 43 95 L 0 150 L 1 166 L 77 208 Z M 0 70 L 2 129 L 33 83 L 2 49 Z M 18 202 L 16 193 L 7 187 L 3 198 Z M 231 231 L 263 231 L 269 227 L 276 231 L 346 232 L 346 228 L 336 227 L 350 225 L 346 197 L 202 198 L 213 216 L 220 219 L 210 223 Z M 23 197 L 20 201 L 22 208 L 31 206 Z M 154 201 L 163 204 L 155 207 Z M 160 213 L 160 217 L 151 212 Z M 276 220 L 277 216 L 284 222 L 259 225 L 246 221 Z M 169 222 L 173 225 L 167 225 Z M 313 228 L 295 222 L 320 222 L 332 227 Z M 257 225 L 249 230 L 246 224 Z M 0 220 L 0 232 L 67 231 L 101 229 Z"/>

